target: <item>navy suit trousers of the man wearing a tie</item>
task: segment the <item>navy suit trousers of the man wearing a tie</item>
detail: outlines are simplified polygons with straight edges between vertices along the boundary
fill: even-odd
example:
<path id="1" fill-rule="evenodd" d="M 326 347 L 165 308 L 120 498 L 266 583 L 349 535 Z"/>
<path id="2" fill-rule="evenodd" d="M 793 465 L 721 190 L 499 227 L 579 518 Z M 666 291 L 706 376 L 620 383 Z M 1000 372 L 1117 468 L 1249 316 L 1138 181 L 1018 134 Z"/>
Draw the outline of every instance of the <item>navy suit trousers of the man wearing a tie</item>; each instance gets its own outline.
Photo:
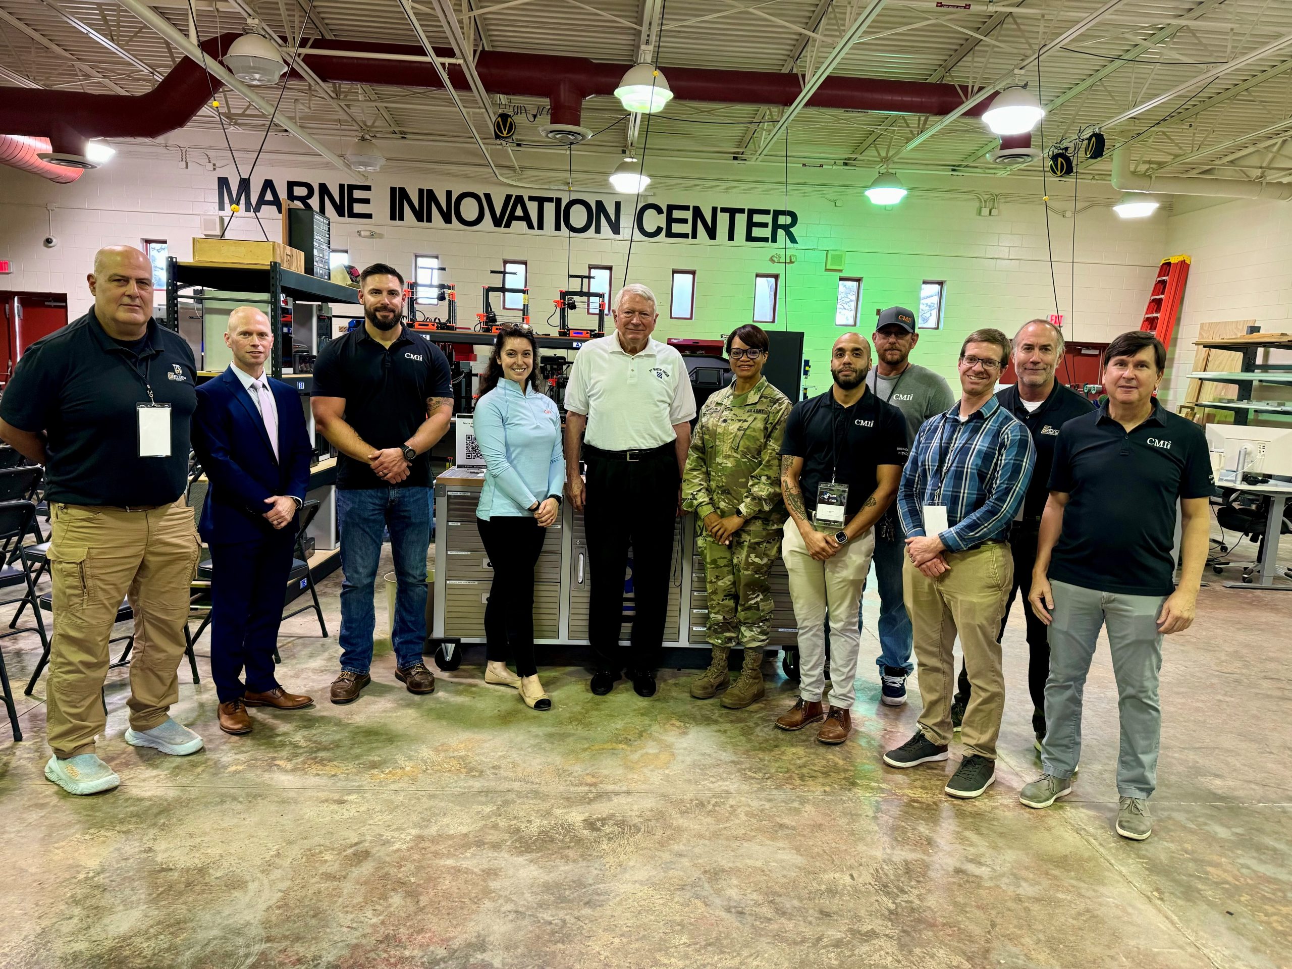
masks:
<path id="1" fill-rule="evenodd" d="M 292 527 L 256 541 L 211 545 L 211 678 L 221 703 L 279 685 L 274 646 L 295 540 Z"/>

